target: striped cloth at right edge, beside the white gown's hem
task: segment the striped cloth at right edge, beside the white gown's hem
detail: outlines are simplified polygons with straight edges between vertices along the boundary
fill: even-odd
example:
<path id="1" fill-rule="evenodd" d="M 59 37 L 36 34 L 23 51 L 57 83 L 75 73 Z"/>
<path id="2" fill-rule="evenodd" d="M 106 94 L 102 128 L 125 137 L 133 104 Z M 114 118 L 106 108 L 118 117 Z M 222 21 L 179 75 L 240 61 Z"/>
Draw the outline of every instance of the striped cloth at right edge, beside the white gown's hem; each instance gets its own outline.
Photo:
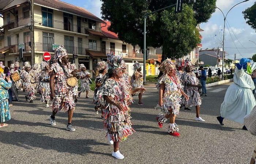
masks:
<path id="1" fill-rule="evenodd" d="M 244 117 L 244 125 L 252 135 L 256 136 L 256 106 Z"/>

